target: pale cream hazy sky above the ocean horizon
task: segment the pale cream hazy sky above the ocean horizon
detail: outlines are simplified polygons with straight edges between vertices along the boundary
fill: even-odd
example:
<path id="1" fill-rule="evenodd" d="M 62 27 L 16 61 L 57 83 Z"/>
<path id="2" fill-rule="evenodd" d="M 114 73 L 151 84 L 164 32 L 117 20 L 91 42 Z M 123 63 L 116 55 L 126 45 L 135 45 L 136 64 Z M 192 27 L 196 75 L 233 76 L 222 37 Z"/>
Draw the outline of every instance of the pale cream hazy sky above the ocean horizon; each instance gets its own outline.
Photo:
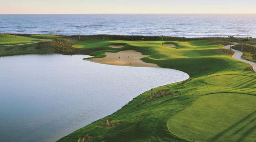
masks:
<path id="1" fill-rule="evenodd" d="M 0 14 L 256 13 L 256 0 L 0 0 Z"/>

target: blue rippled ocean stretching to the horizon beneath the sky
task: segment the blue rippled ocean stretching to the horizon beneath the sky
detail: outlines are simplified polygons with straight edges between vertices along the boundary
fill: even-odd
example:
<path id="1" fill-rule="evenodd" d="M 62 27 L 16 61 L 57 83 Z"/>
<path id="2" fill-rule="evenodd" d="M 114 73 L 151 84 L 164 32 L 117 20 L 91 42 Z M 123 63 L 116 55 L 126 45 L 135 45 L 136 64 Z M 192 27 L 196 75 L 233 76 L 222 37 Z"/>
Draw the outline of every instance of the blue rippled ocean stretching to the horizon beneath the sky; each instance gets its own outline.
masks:
<path id="1" fill-rule="evenodd" d="M 256 15 L 0 15 L 0 32 L 62 35 L 256 37 Z"/>

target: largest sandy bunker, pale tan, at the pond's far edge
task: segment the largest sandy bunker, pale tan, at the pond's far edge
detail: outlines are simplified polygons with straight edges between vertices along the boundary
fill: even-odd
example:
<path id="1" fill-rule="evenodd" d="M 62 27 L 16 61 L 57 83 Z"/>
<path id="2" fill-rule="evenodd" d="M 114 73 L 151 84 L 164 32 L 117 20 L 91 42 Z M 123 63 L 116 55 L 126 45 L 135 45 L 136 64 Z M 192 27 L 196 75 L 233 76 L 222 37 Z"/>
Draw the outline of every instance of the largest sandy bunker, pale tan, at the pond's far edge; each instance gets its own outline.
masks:
<path id="1" fill-rule="evenodd" d="M 88 59 L 103 64 L 110 65 L 125 65 L 125 66 L 140 66 L 140 67 L 159 67 L 156 64 L 146 63 L 141 58 L 148 57 L 149 55 L 142 55 L 135 50 L 125 50 L 117 53 L 105 52 L 107 55 L 104 58 Z"/>

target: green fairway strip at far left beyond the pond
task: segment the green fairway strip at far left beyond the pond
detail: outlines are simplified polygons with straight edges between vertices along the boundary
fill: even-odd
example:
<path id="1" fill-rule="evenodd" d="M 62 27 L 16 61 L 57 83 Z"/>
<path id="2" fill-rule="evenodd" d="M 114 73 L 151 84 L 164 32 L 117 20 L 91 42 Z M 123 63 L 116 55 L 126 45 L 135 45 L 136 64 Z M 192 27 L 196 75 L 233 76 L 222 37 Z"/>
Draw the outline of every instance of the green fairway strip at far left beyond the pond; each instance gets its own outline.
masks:
<path id="1" fill-rule="evenodd" d="M 41 42 L 43 40 L 36 39 L 36 38 L 27 38 L 15 35 L 3 35 L 0 34 L 0 46 L 1 45 L 14 45 L 14 44 L 25 44 L 25 43 L 34 43 L 34 42 Z"/>

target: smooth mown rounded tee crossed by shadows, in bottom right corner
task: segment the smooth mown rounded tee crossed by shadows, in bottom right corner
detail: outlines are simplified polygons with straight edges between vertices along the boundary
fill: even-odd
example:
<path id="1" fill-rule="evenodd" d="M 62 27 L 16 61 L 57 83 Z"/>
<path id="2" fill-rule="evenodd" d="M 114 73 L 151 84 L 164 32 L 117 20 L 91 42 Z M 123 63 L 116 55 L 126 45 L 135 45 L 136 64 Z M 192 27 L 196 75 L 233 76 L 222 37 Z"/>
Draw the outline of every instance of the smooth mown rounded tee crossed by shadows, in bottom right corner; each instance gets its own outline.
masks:
<path id="1" fill-rule="evenodd" d="M 200 97 L 171 117 L 168 128 L 197 142 L 256 141 L 256 96 L 220 93 Z"/>

